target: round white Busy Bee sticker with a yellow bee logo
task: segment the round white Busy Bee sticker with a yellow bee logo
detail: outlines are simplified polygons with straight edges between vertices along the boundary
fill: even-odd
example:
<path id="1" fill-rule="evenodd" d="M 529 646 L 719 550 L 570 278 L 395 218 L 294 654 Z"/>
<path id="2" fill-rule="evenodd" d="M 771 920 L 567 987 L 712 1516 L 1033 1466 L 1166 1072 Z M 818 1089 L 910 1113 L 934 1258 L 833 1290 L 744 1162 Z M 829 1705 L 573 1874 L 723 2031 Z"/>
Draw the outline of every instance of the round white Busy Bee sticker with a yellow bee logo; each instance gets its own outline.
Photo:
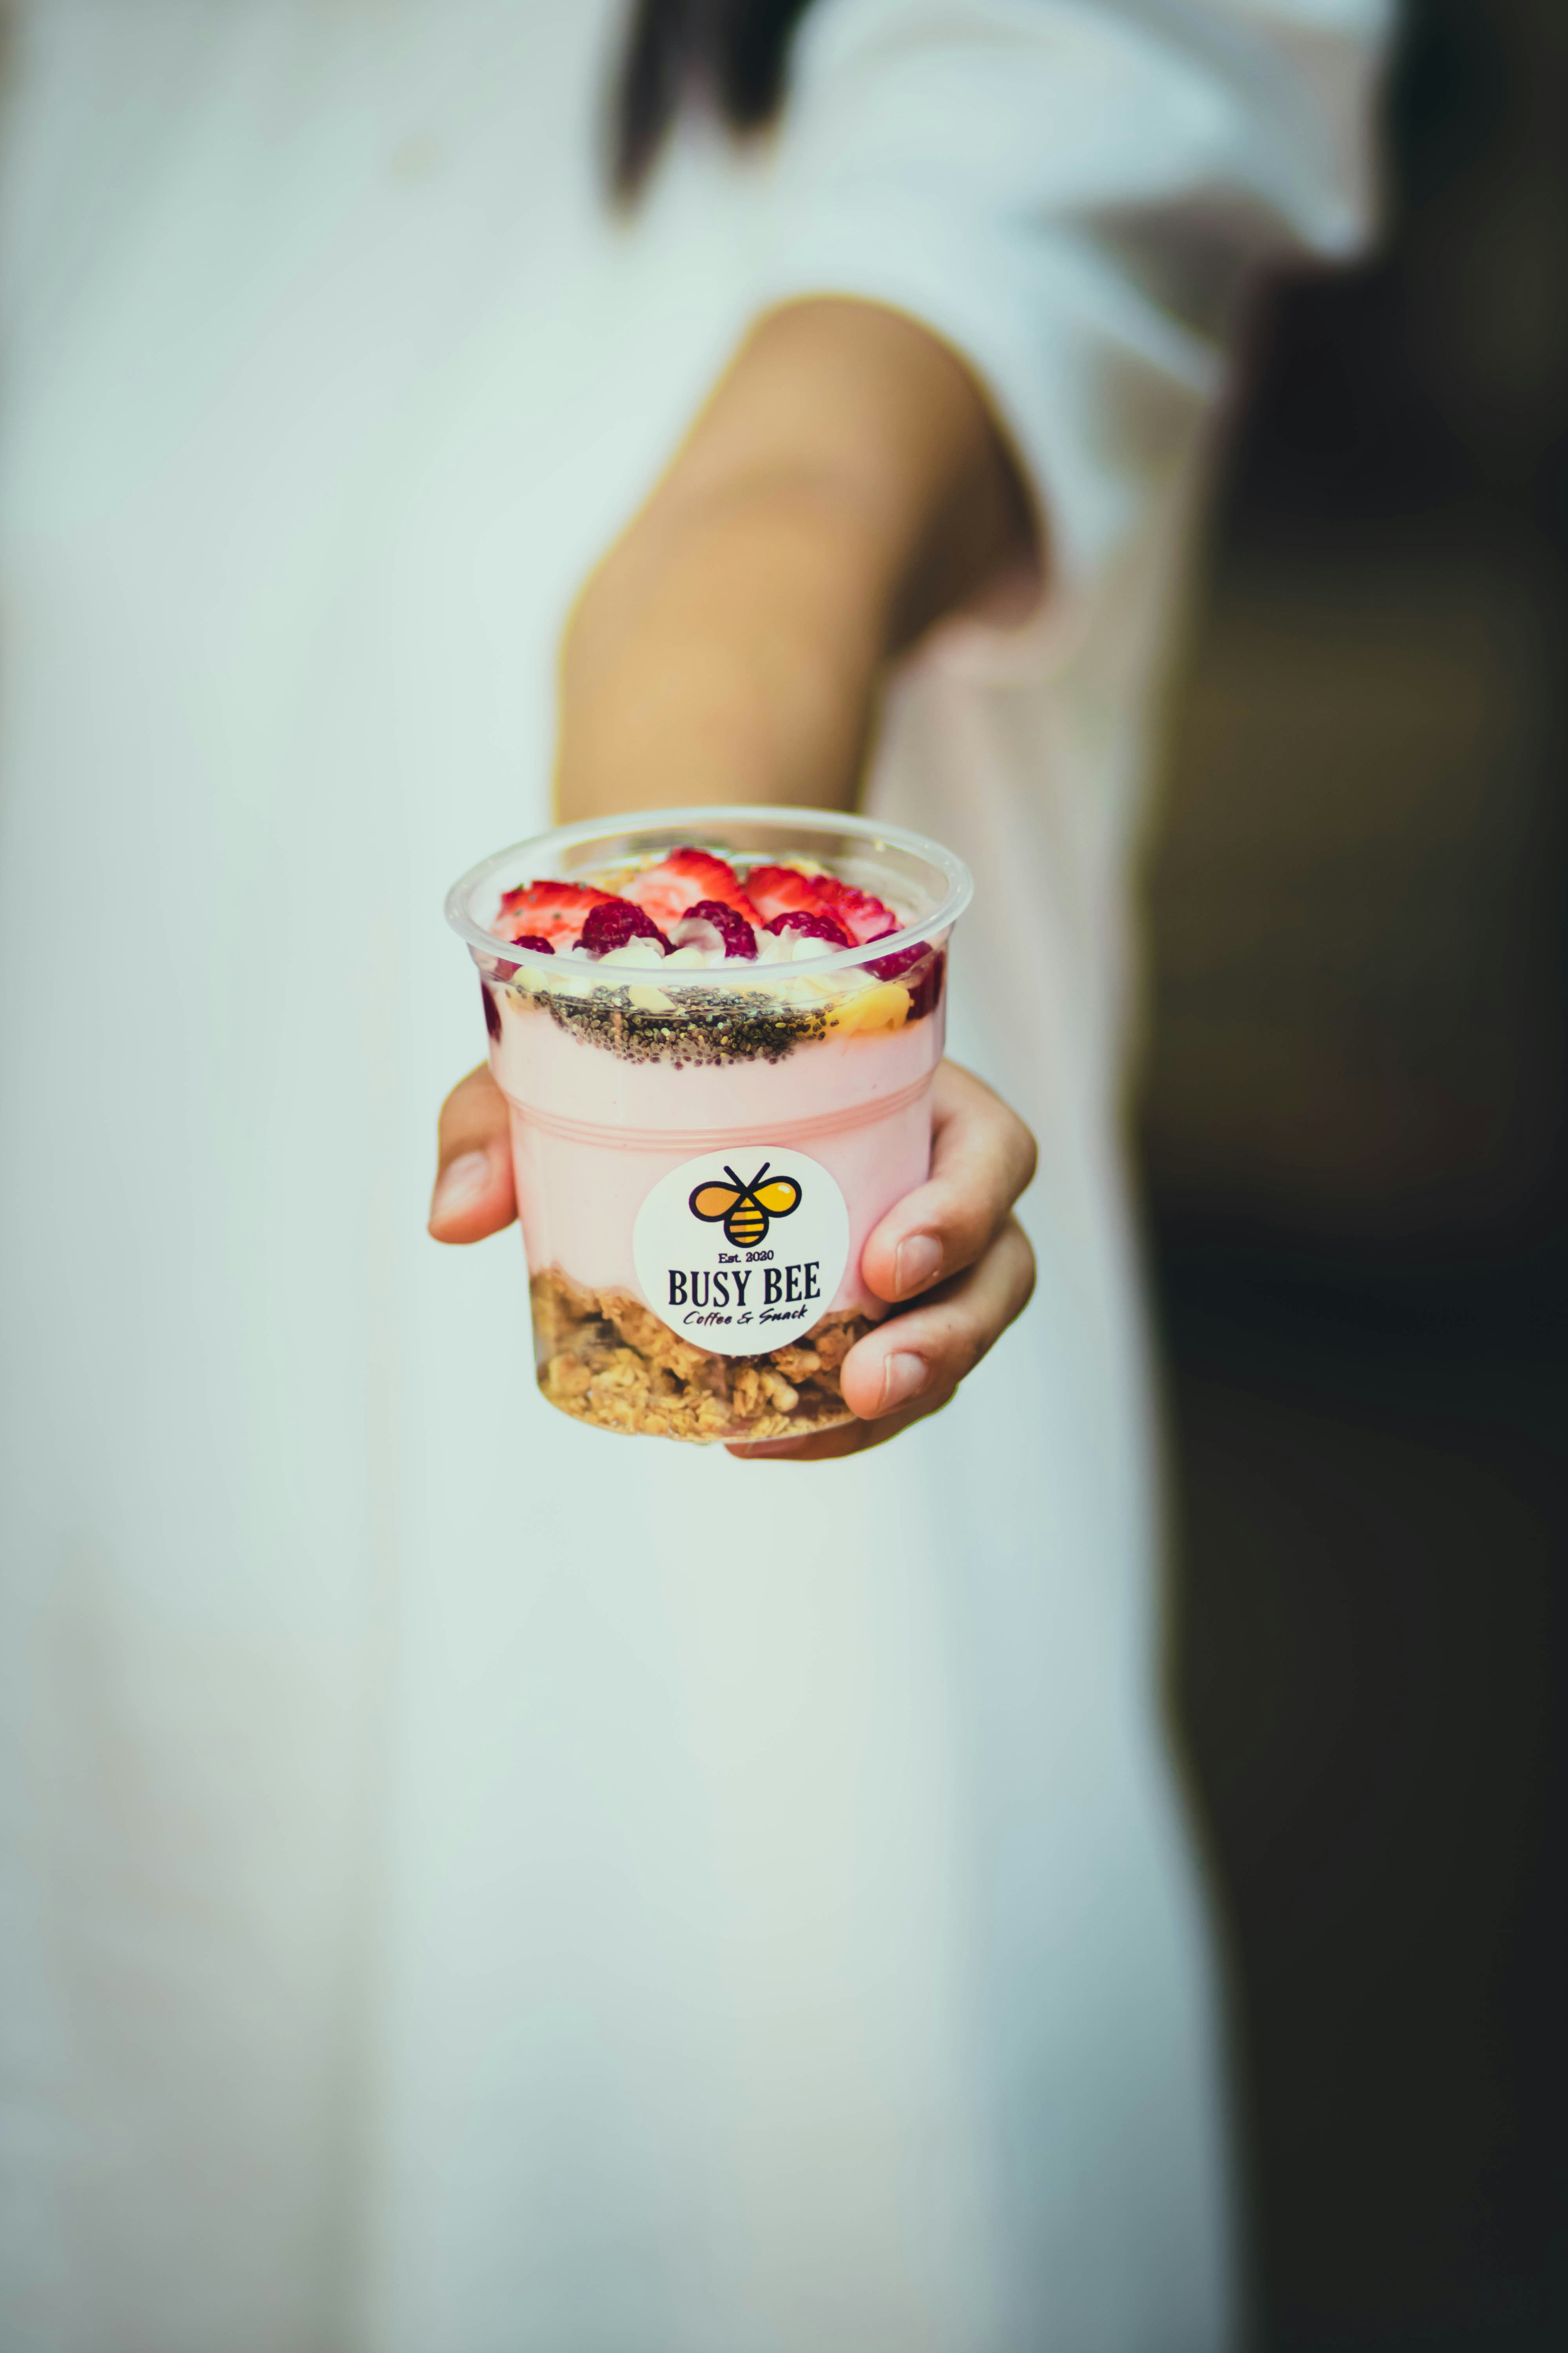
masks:
<path id="1" fill-rule="evenodd" d="M 642 1297 L 682 1339 L 764 1355 L 827 1313 L 849 1261 L 849 1209 L 806 1153 L 738 1144 L 658 1179 L 632 1259 Z"/>

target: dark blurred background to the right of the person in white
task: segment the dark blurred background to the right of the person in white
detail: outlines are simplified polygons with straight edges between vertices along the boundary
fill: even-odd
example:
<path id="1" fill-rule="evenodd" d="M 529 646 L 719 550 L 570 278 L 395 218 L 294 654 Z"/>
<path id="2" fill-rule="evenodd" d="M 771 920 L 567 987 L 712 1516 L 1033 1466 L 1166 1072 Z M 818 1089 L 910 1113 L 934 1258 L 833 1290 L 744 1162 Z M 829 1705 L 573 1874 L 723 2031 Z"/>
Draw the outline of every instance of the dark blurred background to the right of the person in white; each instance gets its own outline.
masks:
<path id="1" fill-rule="evenodd" d="M 1255 2341 L 1568 2346 L 1568 7 L 1253 320 L 1152 849 L 1173 1692 Z"/>

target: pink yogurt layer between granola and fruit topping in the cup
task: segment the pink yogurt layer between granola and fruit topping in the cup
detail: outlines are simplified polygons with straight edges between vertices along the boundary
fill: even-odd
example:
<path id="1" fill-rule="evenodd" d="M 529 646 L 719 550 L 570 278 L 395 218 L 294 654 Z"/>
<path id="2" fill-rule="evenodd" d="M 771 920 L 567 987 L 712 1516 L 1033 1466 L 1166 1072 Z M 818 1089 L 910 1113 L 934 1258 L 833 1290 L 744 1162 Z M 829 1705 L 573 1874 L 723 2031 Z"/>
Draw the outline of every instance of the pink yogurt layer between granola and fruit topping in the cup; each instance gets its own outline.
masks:
<path id="1" fill-rule="evenodd" d="M 498 988 L 491 1071 L 512 1106 L 512 1158 L 529 1268 L 642 1299 L 637 1209 L 658 1179 L 731 1144 L 792 1144 L 849 1202 L 849 1266 L 827 1306 L 882 1315 L 860 1252 L 931 1167 L 931 1073 L 943 1007 L 898 1031 L 813 1038 L 780 1061 L 630 1061 Z"/>

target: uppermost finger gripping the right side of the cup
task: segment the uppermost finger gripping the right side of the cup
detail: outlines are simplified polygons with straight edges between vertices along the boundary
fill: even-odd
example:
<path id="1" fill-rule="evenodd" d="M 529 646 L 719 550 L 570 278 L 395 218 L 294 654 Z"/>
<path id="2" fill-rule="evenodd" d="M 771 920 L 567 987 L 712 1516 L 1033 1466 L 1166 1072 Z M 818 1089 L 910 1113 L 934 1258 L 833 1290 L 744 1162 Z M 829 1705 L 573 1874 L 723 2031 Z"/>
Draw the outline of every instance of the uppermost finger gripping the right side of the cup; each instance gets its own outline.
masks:
<path id="1" fill-rule="evenodd" d="M 1034 1176 L 1034 1136 L 999 1094 L 943 1061 L 933 1087 L 931 1176 L 905 1193 L 860 1252 L 879 1299 L 914 1299 L 973 1266 Z"/>

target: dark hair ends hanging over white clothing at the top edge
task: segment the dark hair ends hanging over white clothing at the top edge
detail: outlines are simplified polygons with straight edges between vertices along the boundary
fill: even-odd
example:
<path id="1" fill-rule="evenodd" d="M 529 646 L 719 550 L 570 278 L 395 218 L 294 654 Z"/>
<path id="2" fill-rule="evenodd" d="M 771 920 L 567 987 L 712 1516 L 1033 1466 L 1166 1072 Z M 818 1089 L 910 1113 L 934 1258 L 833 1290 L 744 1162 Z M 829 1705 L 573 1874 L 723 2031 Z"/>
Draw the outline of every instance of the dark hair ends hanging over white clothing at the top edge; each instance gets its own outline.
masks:
<path id="1" fill-rule="evenodd" d="M 811 0 L 637 0 L 616 89 L 614 184 L 637 195 L 682 106 L 710 106 L 731 132 L 771 122 L 790 35 Z"/>

